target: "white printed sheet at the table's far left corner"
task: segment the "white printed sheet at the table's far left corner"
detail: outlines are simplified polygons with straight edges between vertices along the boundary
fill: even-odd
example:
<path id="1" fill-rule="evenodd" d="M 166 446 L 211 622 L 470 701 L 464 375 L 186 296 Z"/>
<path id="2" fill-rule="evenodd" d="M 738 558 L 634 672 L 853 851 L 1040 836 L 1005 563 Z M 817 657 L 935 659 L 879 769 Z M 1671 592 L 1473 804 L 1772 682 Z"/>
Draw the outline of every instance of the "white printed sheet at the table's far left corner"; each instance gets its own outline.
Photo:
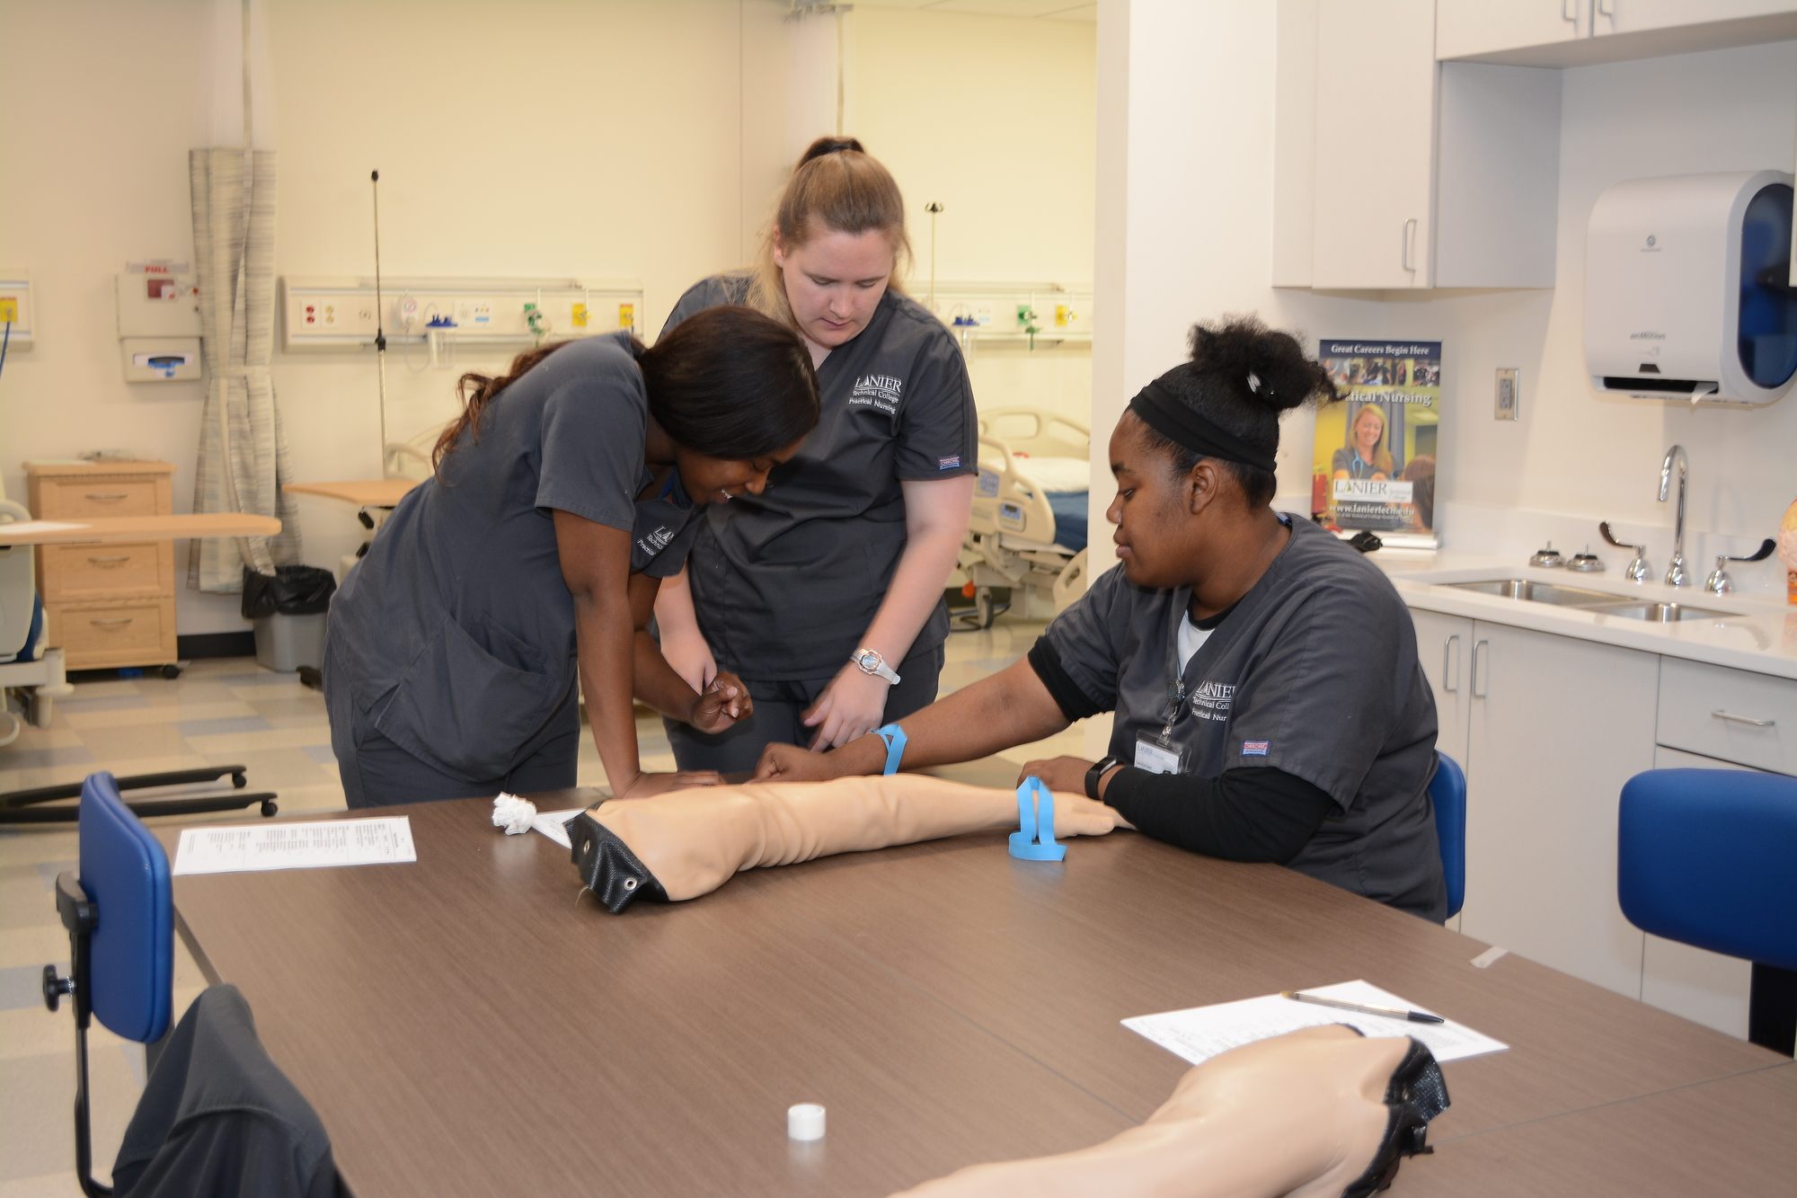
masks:
<path id="1" fill-rule="evenodd" d="M 261 869 L 323 869 L 415 862 L 412 817 L 183 827 L 176 874 L 235 874 Z"/>

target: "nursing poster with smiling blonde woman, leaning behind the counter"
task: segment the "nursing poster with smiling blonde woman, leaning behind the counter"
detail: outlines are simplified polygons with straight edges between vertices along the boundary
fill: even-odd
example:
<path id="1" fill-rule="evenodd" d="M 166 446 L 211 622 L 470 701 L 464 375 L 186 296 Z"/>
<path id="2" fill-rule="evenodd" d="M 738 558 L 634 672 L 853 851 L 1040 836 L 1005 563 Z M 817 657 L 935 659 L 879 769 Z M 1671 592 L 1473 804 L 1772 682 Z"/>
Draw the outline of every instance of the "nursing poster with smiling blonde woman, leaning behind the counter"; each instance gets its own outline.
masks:
<path id="1" fill-rule="evenodd" d="M 1312 513 L 1432 549 L 1441 342 L 1324 338 L 1317 356 L 1344 401 L 1317 412 Z"/>

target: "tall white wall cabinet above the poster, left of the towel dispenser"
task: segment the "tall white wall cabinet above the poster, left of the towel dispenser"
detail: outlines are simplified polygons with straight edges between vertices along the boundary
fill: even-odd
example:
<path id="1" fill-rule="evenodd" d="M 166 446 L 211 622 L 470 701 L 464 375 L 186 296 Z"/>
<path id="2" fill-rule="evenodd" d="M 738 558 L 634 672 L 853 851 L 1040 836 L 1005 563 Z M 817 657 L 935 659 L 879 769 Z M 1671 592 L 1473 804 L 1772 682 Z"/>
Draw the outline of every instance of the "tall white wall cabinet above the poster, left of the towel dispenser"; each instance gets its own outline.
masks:
<path id="1" fill-rule="evenodd" d="M 1436 0 L 1281 0 L 1274 286 L 1551 288 L 1560 77 L 1436 63 Z"/>

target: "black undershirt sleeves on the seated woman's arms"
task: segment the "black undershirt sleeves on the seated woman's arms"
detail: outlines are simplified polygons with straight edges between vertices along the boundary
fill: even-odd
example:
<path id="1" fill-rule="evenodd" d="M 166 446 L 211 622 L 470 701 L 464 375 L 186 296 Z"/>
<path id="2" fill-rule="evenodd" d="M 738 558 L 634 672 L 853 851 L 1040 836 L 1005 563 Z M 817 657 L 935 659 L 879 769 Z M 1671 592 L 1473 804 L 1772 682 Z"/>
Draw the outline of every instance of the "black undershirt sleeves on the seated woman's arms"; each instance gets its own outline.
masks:
<path id="1" fill-rule="evenodd" d="M 1094 703 L 1060 664 L 1048 637 L 1030 648 L 1030 667 L 1067 720 L 1094 716 Z M 1321 786 L 1274 770 L 1245 766 L 1222 777 L 1118 770 L 1105 804 L 1146 836 L 1231 862 L 1290 862 L 1317 835 L 1333 800 Z"/>

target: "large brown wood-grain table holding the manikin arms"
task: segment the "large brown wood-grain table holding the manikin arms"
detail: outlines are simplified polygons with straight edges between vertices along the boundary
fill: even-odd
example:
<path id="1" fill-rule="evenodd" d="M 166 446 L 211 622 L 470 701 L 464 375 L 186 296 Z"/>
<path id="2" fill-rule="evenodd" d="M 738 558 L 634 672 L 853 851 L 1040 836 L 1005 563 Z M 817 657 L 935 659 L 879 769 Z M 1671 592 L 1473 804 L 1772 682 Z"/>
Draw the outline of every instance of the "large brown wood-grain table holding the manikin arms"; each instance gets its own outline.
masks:
<path id="1" fill-rule="evenodd" d="M 1186 1065 L 1121 1018 L 1357 977 L 1513 1045 L 1447 1065 L 1439 1151 L 1398 1194 L 1783 1193 L 1797 1169 L 1788 1059 L 1513 955 L 1477 970 L 1477 941 L 1279 867 L 967 836 L 607 916 L 485 800 L 392 811 L 415 865 L 174 880 L 203 971 L 365 1196 L 888 1193 L 1145 1119 Z M 785 1139 L 801 1101 L 819 1144 Z"/>

